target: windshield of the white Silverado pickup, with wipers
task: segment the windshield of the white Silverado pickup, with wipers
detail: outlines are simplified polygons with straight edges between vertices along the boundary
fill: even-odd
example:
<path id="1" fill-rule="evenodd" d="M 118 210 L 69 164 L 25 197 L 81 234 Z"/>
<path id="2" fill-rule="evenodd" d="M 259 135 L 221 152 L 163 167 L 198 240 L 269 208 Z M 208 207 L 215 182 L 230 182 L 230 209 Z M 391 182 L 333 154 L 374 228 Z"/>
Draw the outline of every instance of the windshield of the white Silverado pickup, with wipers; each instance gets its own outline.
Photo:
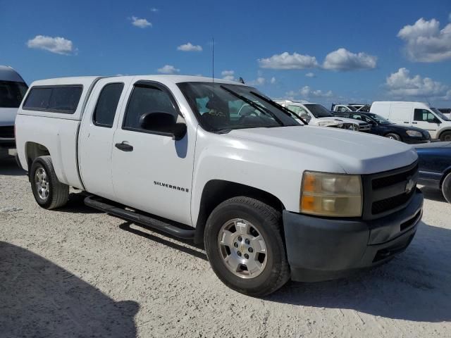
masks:
<path id="1" fill-rule="evenodd" d="M 252 94 L 266 97 L 252 87 L 211 82 L 183 82 L 178 87 L 199 123 L 211 132 L 300 125 L 280 108 Z"/>

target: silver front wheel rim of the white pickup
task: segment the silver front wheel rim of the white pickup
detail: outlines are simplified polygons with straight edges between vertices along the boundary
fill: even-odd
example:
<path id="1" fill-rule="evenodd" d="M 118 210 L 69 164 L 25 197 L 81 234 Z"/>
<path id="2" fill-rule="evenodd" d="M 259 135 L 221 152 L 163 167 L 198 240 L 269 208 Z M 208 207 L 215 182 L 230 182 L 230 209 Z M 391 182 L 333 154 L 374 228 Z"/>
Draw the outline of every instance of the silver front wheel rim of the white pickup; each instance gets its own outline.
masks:
<path id="1" fill-rule="evenodd" d="M 266 267 L 266 242 L 258 227 L 235 218 L 224 223 L 218 234 L 218 249 L 224 265 L 233 275 L 254 278 Z"/>

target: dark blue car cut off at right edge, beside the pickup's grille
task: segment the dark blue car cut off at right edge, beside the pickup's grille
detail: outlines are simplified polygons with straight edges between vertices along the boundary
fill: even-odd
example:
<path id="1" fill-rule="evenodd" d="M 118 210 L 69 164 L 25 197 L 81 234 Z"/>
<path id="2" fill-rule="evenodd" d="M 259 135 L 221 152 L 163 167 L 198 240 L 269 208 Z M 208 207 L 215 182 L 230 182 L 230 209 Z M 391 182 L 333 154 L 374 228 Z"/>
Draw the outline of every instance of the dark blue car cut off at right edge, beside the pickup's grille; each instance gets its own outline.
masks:
<path id="1" fill-rule="evenodd" d="M 417 144 L 419 184 L 440 189 L 451 203 L 451 142 Z"/>

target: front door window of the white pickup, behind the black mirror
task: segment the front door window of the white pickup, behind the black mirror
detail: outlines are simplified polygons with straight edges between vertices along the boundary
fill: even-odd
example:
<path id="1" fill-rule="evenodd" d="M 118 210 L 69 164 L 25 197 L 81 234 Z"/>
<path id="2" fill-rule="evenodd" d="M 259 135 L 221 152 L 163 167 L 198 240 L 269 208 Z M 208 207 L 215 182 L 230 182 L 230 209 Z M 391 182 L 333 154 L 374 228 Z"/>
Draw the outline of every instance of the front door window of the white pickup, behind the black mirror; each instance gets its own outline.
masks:
<path id="1" fill-rule="evenodd" d="M 145 113 L 170 113 L 174 121 L 178 118 L 178 111 L 166 91 L 154 86 L 135 86 L 125 111 L 123 129 L 144 131 L 140 118 Z"/>

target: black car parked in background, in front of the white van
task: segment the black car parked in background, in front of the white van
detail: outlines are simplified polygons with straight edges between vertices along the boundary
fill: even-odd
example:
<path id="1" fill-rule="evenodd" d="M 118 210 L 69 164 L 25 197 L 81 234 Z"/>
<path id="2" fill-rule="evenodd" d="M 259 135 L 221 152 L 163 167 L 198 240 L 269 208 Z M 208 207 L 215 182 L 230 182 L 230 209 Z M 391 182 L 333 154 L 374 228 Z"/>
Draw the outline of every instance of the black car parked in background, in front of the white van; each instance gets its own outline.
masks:
<path id="1" fill-rule="evenodd" d="M 431 135 L 427 130 L 417 127 L 396 125 L 389 120 L 385 120 L 381 115 L 374 113 L 360 113 L 359 111 L 356 111 L 352 113 L 335 113 L 334 115 L 365 121 L 371 125 L 371 130 L 369 131 L 371 134 L 381 135 L 383 137 L 388 137 L 389 139 L 396 139 L 397 141 L 409 144 L 431 141 Z"/>

